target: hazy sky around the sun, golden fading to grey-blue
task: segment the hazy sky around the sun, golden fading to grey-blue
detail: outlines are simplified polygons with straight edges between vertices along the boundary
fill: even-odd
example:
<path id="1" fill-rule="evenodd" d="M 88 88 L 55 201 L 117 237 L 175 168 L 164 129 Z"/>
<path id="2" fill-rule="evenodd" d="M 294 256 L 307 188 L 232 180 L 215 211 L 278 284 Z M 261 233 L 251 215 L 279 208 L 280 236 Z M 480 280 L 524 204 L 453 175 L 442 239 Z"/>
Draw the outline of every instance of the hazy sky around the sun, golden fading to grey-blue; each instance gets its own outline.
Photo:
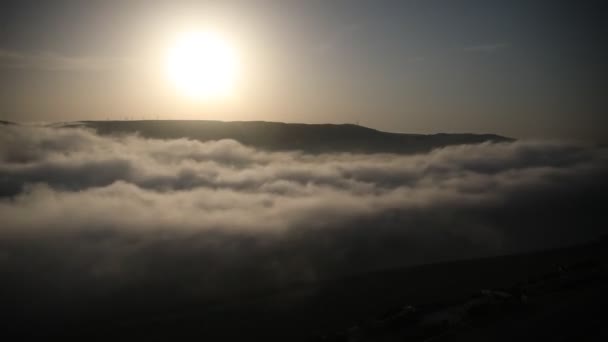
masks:
<path id="1" fill-rule="evenodd" d="M 608 142 L 603 1 L 3 1 L 0 119 L 360 123 Z M 236 51 L 228 98 L 167 77 L 180 32 Z"/>

